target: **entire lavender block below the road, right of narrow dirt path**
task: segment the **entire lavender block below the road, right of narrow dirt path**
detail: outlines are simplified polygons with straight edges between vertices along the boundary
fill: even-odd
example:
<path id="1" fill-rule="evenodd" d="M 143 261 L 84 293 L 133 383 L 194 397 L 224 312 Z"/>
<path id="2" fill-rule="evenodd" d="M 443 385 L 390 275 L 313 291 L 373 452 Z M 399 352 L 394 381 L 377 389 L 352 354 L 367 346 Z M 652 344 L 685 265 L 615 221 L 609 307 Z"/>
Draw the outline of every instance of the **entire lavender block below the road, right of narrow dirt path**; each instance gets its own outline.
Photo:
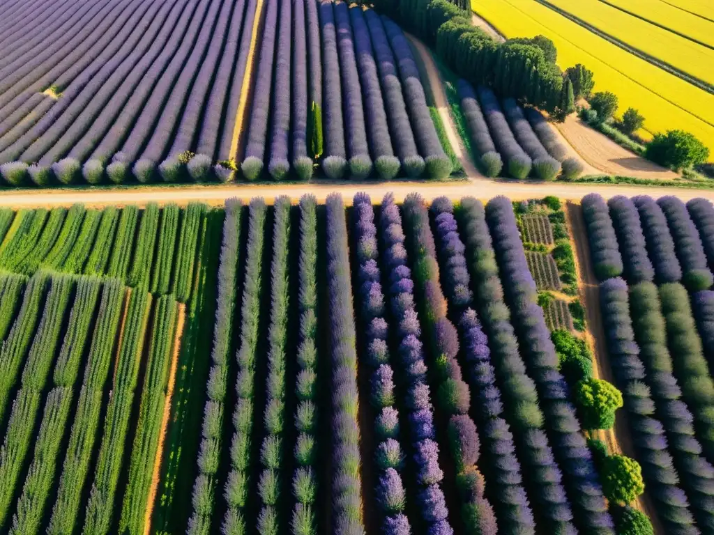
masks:
<path id="1" fill-rule="evenodd" d="M 714 207 L 583 198 L 615 384 L 667 533 L 714 529 Z"/>

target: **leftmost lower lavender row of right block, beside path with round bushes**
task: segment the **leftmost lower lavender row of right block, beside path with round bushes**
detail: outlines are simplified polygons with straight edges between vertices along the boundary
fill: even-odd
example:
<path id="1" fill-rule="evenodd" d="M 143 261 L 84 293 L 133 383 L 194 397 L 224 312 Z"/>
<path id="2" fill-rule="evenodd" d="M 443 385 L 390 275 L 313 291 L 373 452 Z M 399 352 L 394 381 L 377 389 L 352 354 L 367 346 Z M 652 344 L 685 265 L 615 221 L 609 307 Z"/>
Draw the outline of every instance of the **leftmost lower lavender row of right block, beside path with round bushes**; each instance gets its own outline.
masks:
<path id="1" fill-rule="evenodd" d="M 645 484 L 657 504 L 658 514 L 668 533 L 698 534 L 680 478 L 668 452 L 665 429 L 654 417 L 649 387 L 643 383 L 645 367 L 628 311 L 628 287 L 620 277 L 600 283 L 600 306 L 615 382 L 623 392 L 628 423 L 633 432 Z"/>

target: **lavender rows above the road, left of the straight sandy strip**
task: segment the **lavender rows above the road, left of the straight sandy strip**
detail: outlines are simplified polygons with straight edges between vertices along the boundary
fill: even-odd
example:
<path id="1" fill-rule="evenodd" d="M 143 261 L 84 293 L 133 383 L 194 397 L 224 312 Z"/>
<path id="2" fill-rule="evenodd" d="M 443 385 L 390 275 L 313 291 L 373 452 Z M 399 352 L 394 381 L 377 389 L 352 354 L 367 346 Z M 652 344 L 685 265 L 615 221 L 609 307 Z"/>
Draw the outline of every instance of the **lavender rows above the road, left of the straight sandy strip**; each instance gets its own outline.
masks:
<path id="1" fill-rule="evenodd" d="M 236 151 L 256 6 L 108 0 L 44 19 L 46 6 L 0 61 L 0 174 L 11 185 L 147 181 L 157 168 L 206 178 Z"/>

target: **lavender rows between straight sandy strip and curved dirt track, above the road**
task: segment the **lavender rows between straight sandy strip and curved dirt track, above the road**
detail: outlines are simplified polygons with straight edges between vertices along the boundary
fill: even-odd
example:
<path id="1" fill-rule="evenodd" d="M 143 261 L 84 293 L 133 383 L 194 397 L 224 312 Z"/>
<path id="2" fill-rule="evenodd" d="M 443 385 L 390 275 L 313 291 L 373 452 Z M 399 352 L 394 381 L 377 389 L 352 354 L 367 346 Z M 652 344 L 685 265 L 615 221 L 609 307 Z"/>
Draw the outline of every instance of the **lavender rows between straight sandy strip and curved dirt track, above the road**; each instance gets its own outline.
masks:
<path id="1" fill-rule="evenodd" d="M 400 170 L 448 176 L 451 163 L 398 26 L 359 6 L 308 0 L 306 27 L 298 4 L 293 14 L 290 0 L 268 0 L 243 176 L 255 180 L 267 163 L 273 180 L 291 170 L 306 180 L 313 162 L 333 179 L 375 173 L 389 180 Z M 322 87 L 308 87 L 308 63 Z"/>

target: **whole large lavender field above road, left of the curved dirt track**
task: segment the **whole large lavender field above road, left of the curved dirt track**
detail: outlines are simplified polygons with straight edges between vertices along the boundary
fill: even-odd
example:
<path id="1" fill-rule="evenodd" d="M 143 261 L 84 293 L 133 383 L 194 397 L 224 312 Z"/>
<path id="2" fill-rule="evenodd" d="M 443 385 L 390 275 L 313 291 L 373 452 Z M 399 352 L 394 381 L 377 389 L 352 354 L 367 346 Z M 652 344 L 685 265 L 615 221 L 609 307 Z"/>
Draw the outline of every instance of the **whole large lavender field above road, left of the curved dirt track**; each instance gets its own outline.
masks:
<path id="1" fill-rule="evenodd" d="M 371 10 L 328 0 L 2 9 L 32 30 L 0 41 L 9 185 L 306 180 L 316 167 L 330 178 L 451 174 L 406 36 Z"/>

